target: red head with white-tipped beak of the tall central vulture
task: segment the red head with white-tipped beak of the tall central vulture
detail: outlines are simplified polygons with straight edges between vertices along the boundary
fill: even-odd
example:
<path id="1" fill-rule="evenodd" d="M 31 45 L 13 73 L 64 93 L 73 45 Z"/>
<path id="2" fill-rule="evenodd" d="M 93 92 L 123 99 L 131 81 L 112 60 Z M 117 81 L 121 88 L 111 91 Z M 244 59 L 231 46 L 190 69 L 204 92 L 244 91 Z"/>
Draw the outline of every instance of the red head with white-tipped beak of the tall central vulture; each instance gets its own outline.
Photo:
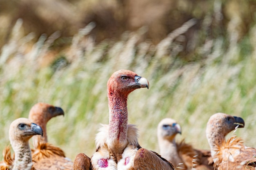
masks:
<path id="1" fill-rule="evenodd" d="M 135 89 L 144 87 L 149 88 L 148 80 L 129 70 L 116 71 L 108 79 L 109 95 L 113 95 L 115 91 L 124 96 L 128 96 L 128 94 Z"/>

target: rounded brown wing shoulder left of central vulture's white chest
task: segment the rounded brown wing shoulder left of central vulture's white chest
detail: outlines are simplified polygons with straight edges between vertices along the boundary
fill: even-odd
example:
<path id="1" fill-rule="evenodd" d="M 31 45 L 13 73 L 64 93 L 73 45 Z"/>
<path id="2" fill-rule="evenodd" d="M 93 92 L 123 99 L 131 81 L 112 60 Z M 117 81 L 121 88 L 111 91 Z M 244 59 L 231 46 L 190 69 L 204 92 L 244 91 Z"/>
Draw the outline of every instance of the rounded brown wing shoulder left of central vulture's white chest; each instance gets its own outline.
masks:
<path id="1" fill-rule="evenodd" d="M 91 159 L 86 156 L 84 153 L 79 153 L 76 155 L 76 158 L 74 159 L 73 169 L 74 170 L 90 170 Z"/>

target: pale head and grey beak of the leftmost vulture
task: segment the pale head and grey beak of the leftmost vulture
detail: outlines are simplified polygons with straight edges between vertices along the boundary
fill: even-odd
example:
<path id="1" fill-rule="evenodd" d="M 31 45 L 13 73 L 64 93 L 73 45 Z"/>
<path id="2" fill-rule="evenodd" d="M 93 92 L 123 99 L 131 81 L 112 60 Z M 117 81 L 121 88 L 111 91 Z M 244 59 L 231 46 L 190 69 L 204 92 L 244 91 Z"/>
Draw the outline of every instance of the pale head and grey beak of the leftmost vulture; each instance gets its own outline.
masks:
<path id="1" fill-rule="evenodd" d="M 11 146 L 17 143 L 28 142 L 29 139 L 34 135 L 42 135 L 43 130 L 37 124 L 32 123 L 27 118 L 18 118 L 14 120 L 9 128 L 9 139 Z"/>

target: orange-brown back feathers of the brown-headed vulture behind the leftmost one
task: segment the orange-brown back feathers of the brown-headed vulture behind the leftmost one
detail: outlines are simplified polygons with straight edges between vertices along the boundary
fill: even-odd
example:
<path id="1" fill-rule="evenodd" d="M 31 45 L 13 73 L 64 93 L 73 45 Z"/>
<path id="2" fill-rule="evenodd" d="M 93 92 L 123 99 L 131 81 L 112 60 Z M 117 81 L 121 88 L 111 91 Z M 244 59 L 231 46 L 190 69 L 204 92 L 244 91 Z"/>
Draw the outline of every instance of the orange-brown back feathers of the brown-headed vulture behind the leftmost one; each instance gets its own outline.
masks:
<path id="1" fill-rule="evenodd" d="M 65 157 L 61 148 L 49 143 L 39 142 L 32 150 L 32 160 L 37 170 L 72 170 L 73 162 Z"/>

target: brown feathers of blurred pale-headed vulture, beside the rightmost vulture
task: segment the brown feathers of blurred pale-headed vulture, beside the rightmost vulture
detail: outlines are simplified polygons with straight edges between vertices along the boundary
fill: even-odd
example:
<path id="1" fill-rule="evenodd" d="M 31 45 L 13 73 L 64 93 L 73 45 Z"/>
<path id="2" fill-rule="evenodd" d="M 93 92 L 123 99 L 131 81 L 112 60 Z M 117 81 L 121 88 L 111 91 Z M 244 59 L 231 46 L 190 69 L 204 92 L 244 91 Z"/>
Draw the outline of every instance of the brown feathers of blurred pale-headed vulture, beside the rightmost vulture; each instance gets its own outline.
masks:
<path id="1" fill-rule="evenodd" d="M 196 150 L 191 144 L 185 143 L 184 139 L 176 143 L 177 152 L 187 169 L 213 170 L 211 151 Z"/>

